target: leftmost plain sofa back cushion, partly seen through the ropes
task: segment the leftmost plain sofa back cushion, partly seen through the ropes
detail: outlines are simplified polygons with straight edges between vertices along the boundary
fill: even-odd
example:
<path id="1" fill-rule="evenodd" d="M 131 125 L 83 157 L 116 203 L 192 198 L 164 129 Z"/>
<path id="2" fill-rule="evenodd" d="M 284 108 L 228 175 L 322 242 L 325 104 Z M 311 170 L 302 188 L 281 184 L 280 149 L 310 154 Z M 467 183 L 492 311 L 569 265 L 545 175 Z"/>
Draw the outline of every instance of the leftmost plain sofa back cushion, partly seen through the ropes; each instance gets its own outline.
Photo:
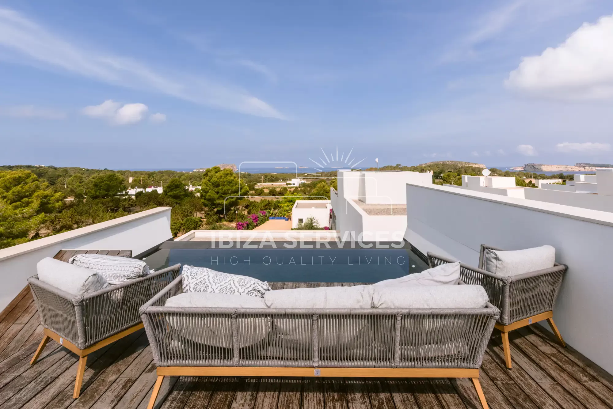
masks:
<path id="1" fill-rule="evenodd" d="M 221 293 L 181 293 L 166 300 L 166 307 L 266 308 L 264 299 Z M 232 348 L 230 315 L 167 314 L 166 320 L 181 337 L 213 347 Z M 238 346 L 248 347 L 267 337 L 272 328 L 269 317 L 239 317 Z M 180 340 L 177 340 L 180 342 Z"/>

